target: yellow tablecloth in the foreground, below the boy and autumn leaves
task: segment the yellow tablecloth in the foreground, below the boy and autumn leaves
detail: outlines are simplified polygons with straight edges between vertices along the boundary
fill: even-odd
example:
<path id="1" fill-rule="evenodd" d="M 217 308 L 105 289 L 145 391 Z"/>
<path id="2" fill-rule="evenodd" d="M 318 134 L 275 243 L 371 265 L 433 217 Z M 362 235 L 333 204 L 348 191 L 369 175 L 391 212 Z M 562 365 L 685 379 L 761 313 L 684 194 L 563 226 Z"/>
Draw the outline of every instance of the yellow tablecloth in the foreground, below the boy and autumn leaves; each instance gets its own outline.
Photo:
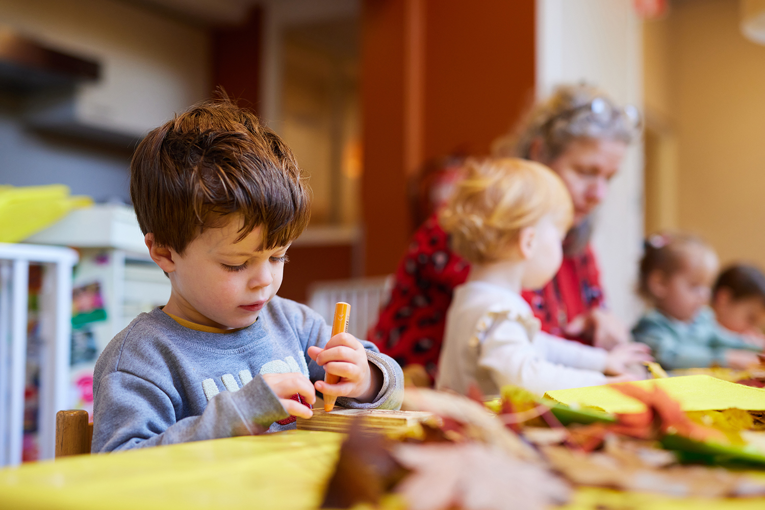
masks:
<path id="1" fill-rule="evenodd" d="M 291 430 L 29 463 L 0 469 L 0 508 L 317 508 L 342 440 L 333 432 Z M 713 508 L 760 510 L 765 499 L 673 499 L 584 488 L 558 510 Z"/>

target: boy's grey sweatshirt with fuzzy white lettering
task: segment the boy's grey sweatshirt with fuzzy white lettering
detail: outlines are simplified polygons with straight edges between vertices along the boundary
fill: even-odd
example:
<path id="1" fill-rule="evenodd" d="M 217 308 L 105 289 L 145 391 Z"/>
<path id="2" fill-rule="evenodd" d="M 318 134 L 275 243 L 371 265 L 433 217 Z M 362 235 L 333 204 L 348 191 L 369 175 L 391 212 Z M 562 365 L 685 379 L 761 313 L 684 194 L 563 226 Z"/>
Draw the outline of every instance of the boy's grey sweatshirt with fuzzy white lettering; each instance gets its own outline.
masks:
<path id="1" fill-rule="evenodd" d="M 251 326 L 206 333 L 181 326 L 160 308 L 142 313 L 115 336 L 93 375 L 93 452 L 153 447 L 295 428 L 262 374 L 301 372 L 315 382 L 324 369 L 308 356 L 324 347 L 330 326 L 295 301 L 274 297 Z M 373 343 L 366 356 L 382 372 L 382 389 L 347 408 L 398 409 L 399 365 Z"/>

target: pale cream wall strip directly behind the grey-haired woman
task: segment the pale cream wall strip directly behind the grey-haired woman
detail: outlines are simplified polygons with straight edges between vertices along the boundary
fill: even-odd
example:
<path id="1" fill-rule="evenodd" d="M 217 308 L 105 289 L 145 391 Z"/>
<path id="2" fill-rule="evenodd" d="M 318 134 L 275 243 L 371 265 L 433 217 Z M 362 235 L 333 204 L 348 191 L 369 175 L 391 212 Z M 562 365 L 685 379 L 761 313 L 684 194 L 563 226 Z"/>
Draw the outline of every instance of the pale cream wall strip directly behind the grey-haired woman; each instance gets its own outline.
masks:
<path id="1" fill-rule="evenodd" d="M 558 83 L 586 81 L 622 105 L 642 109 L 642 31 L 630 0 L 538 0 L 537 94 Z M 643 141 L 627 153 L 597 211 L 594 247 L 609 307 L 633 323 L 642 304 L 636 297 L 637 265 L 643 249 Z"/>

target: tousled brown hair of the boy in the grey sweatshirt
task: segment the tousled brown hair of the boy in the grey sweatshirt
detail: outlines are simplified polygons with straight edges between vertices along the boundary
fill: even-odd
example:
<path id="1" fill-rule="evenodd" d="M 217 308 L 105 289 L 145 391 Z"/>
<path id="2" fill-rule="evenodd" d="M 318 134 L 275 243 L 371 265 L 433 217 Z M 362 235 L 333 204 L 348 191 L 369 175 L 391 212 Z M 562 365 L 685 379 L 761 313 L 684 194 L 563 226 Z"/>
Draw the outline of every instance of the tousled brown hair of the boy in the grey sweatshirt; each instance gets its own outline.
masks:
<path id="1" fill-rule="evenodd" d="M 261 249 L 297 239 L 310 218 L 311 192 L 295 156 L 254 113 L 223 96 L 153 129 L 130 164 L 142 232 L 181 254 L 234 213 L 243 219 L 237 242 L 263 226 Z"/>

